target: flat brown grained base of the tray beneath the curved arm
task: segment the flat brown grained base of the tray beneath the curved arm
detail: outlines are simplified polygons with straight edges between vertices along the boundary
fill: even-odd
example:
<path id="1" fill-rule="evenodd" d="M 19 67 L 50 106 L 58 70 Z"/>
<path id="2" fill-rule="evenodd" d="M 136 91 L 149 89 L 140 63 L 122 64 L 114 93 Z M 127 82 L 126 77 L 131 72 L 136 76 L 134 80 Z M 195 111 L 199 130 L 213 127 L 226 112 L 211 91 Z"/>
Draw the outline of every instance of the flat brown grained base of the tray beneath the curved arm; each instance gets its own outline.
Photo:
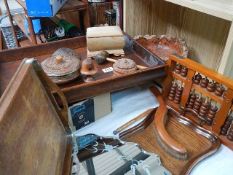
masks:
<path id="1" fill-rule="evenodd" d="M 186 174 L 202 156 L 206 157 L 206 154 L 217 150 L 219 147 L 219 142 L 213 146 L 209 139 L 194 132 L 195 129 L 179 123 L 176 117 L 169 117 L 166 128 L 169 134 L 188 150 L 187 160 L 178 160 L 159 146 L 156 141 L 153 122 L 145 130 L 138 131 L 136 134 L 123 138 L 123 140 L 136 142 L 144 150 L 158 154 L 162 164 L 175 175 Z"/>

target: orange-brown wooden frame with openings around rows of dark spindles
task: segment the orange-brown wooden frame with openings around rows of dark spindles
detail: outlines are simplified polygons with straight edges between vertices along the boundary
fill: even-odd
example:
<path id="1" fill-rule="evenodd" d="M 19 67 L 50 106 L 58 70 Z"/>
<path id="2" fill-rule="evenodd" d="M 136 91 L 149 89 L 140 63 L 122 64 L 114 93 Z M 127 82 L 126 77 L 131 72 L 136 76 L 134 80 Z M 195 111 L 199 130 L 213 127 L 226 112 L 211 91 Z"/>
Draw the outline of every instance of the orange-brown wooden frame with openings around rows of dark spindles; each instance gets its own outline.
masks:
<path id="1" fill-rule="evenodd" d="M 187 75 L 185 77 L 175 73 L 177 64 L 188 69 Z M 224 128 L 224 124 L 226 123 L 226 120 L 228 119 L 233 109 L 233 81 L 189 59 L 180 59 L 175 56 L 171 56 L 168 65 L 169 70 L 168 76 L 164 81 L 163 96 L 168 99 L 167 97 L 169 97 L 170 95 L 173 80 L 181 82 L 180 84 L 183 87 L 182 95 L 180 96 L 179 102 L 168 100 L 168 105 L 170 105 L 177 111 L 180 111 L 181 114 L 187 116 L 190 120 L 198 123 L 205 129 L 208 129 L 209 131 L 217 134 L 226 146 L 233 149 L 233 141 L 227 139 L 227 135 L 229 135 L 229 133 L 231 132 L 230 126 L 228 126 L 228 128 L 226 129 L 227 132 L 224 135 L 221 134 L 221 131 Z M 197 73 L 200 73 L 204 79 L 205 77 L 207 77 L 207 79 L 211 79 L 215 83 L 223 85 L 225 88 L 224 93 L 222 95 L 216 95 L 216 90 L 210 92 L 207 90 L 207 88 L 201 87 L 200 84 L 195 84 L 193 81 Z M 195 91 L 195 93 L 201 94 L 201 96 L 199 95 L 199 97 L 202 98 L 202 104 L 204 103 L 205 99 L 208 99 L 209 101 L 211 100 L 212 105 L 218 104 L 218 110 L 213 116 L 212 121 L 210 121 L 209 123 L 207 122 L 207 111 L 204 117 L 200 116 L 201 105 L 196 112 L 194 110 L 195 107 L 193 107 L 192 109 L 188 108 L 190 94 L 192 94 L 193 91 Z M 208 107 L 208 110 L 209 109 L 210 106 Z"/>

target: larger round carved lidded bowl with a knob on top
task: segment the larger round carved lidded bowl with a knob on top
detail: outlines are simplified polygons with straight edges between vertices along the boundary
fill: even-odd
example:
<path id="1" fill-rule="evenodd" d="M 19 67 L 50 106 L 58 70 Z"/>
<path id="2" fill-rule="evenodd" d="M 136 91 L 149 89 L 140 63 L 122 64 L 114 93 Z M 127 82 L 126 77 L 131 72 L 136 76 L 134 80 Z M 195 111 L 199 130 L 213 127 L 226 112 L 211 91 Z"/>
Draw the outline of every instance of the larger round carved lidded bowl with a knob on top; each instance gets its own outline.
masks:
<path id="1" fill-rule="evenodd" d="M 43 70 L 55 83 L 73 80 L 79 76 L 80 57 L 69 48 L 56 50 L 42 63 Z"/>

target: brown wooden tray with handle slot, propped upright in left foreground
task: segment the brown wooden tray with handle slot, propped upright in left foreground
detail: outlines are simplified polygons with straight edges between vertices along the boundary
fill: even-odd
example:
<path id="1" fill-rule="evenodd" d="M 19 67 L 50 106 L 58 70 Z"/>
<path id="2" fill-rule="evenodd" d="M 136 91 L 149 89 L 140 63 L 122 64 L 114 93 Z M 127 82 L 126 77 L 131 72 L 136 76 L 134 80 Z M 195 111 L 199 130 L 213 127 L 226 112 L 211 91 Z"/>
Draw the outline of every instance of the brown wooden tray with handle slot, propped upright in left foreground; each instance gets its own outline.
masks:
<path id="1" fill-rule="evenodd" d="M 24 59 L 0 100 L 1 174 L 71 174 L 67 109 L 64 95 L 37 61 Z"/>

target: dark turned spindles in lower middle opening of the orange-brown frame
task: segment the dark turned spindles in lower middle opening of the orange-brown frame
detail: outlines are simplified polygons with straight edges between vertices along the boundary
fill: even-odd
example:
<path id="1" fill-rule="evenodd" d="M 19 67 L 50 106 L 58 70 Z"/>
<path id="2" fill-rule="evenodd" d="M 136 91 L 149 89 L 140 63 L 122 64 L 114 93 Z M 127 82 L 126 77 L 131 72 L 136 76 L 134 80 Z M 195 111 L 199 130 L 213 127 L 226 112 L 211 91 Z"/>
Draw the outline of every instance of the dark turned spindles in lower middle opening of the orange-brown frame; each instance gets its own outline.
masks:
<path id="1" fill-rule="evenodd" d="M 192 93 L 189 96 L 187 108 L 194 110 L 201 118 L 205 120 L 207 125 L 211 125 L 218 111 L 216 105 L 212 105 L 209 101 L 204 100 L 201 96 Z"/>

